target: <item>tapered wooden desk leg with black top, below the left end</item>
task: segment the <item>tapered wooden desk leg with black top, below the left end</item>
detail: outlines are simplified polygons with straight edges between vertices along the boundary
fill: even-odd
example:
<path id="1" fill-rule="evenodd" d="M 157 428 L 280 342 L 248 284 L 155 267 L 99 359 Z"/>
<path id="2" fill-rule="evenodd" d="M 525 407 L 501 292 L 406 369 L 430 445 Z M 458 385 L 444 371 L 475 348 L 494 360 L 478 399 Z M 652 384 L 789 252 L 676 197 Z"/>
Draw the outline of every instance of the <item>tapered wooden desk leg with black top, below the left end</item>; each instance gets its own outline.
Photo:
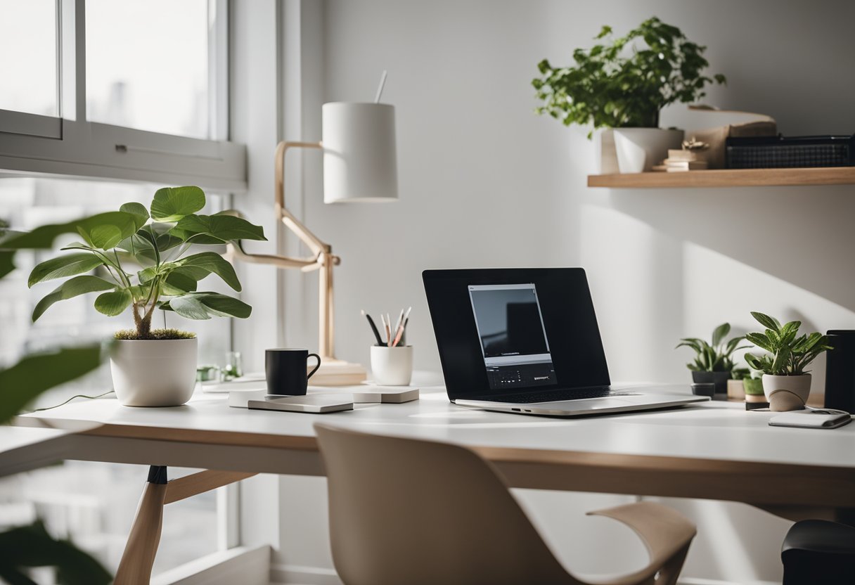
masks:
<path id="1" fill-rule="evenodd" d="M 152 465 L 143 497 L 139 499 L 137 515 L 133 518 L 131 534 L 127 537 L 125 552 L 122 552 L 119 569 L 115 572 L 115 585 L 148 585 L 150 582 L 151 567 L 155 564 L 160 544 L 166 490 L 166 467 Z"/>

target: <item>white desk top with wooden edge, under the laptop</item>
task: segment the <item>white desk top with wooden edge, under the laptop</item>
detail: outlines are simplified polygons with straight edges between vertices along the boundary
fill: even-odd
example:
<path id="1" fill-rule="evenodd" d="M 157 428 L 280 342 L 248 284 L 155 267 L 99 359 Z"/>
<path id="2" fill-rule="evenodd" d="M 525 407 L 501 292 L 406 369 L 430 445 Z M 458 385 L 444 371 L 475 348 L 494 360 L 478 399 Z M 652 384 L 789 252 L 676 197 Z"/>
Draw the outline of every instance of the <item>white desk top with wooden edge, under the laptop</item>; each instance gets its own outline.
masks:
<path id="1" fill-rule="evenodd" d="M 607 417 L 523 417 L 469 411 L 451 405 L 442 388 L 423 387 L 416 402 L 329 415 L 229 408 L 225 397 L 198 393 L 178 408 L 87 400 L 17 423 L 80 428 L 66 439 L 66 458 L 321 476 L 312 423 L 323 421 L 472 447 L 512 487 L 734 500 L 787 517 L 855 508 L 855 423 L 774 428 L 769 416 L 714 402 Z"/>

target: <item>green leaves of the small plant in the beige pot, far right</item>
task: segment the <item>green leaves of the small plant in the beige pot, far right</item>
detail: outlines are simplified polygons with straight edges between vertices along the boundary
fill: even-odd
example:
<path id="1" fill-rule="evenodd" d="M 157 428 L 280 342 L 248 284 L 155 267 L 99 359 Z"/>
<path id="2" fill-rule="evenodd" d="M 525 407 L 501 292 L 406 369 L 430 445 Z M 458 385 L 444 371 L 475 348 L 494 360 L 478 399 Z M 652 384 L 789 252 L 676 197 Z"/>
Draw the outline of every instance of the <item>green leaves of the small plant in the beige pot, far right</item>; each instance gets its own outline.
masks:
<path id="1" fill-rule="evenodd" d="M 746 353 L 746 362 L 753 369 L 758 369 L 764 374 L 806 374 L 809 370 L 805 370 L 805 368 L 819 354 L 834 349 L 828 346 L 826 335 L 820 333 L 799 335 L 800 321 L 791 321 L 781 325 L 781 322 L 775 317 L 764 313 L 752 311 L 752 316 L 766 329 L 763 333 L 747 334 L 746 340 L 769 353 L 762 356 Z"/>

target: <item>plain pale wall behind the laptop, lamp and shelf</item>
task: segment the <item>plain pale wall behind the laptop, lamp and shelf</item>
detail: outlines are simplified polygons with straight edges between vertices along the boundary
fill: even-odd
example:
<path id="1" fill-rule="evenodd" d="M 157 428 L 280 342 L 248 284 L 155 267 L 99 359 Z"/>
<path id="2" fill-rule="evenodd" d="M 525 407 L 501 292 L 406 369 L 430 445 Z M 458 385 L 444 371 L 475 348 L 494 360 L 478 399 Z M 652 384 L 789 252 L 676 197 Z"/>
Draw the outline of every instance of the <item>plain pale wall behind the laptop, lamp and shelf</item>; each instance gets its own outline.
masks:
<path id="1" fill-rule="evenodd" d="M 319 168 L 308 160 L 304 196 L 294 202 L 343 257 L 340 358 L 368 363 L 360 309 L 392 313 L 411 304 L 416 366 L 439 369 L 422 292 L 427 268 L 585 267 L 616 380 L 687 381 L 689 356 L 673 351 L 676 340 L 706 336 L 724 321 L 744 332 L 753 328 L 749 310 L 798 317 L 816 330 L 855 328 L 852 187 L 588 189 L 593 145 L 585 131 L 535 116 L 529 86 L 541 58 L 568 62 L 601 25 L 623 32 L 658 15 L 708 45 L 711 71 L 728 76 L 708 103 L 773 115 L 791 135 L 852 133 L 855 5 L 327 0 L 311 10 L 317 18 L 302 33 L 320 39 L 310 56 L 322 75 L 300 93 L 303 135 L 286 138 L 320 139 L 321 102 L 369 101 L 384 68 L 383 101 L 397 109 L 398 203 L 323 206 Z M 285 338 L 315 346 L 315 281 L 289 286 Z M 822 364 L 817 374 L 814 390 L 822 391 Z M 329 567 L 323 484 L 290 485 L 280 501 L 278 560 Z M 289 514 L 289 498 L 309 492 L 315 514 L 304 505 Z M 575 512 L 603 505 L 600 497 L 521 497 L 571 566 L 615 569 L 611 554 L 578 553 L 587 551 L 578 547 L 587 525 L 575 524 Z M 674 504 L 700 525 L 686 576 L 780 578 L 775 551 L 788 523 L 744 505 Z M 299 535 L 290 549 L 285 524 Z"/>

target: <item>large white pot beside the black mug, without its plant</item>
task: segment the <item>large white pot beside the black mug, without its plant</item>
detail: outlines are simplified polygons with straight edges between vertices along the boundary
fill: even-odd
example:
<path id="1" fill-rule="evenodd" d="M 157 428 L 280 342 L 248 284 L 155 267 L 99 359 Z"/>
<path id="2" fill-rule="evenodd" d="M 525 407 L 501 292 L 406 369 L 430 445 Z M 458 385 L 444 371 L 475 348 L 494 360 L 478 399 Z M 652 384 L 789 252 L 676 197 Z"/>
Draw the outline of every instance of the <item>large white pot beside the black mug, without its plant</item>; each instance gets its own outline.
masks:
<path id="1" fill-rule="evenodd" d="M 196 386 L 198 340 L 116 340 L 113 388 L 125 406 L 180 406 Z"/>

